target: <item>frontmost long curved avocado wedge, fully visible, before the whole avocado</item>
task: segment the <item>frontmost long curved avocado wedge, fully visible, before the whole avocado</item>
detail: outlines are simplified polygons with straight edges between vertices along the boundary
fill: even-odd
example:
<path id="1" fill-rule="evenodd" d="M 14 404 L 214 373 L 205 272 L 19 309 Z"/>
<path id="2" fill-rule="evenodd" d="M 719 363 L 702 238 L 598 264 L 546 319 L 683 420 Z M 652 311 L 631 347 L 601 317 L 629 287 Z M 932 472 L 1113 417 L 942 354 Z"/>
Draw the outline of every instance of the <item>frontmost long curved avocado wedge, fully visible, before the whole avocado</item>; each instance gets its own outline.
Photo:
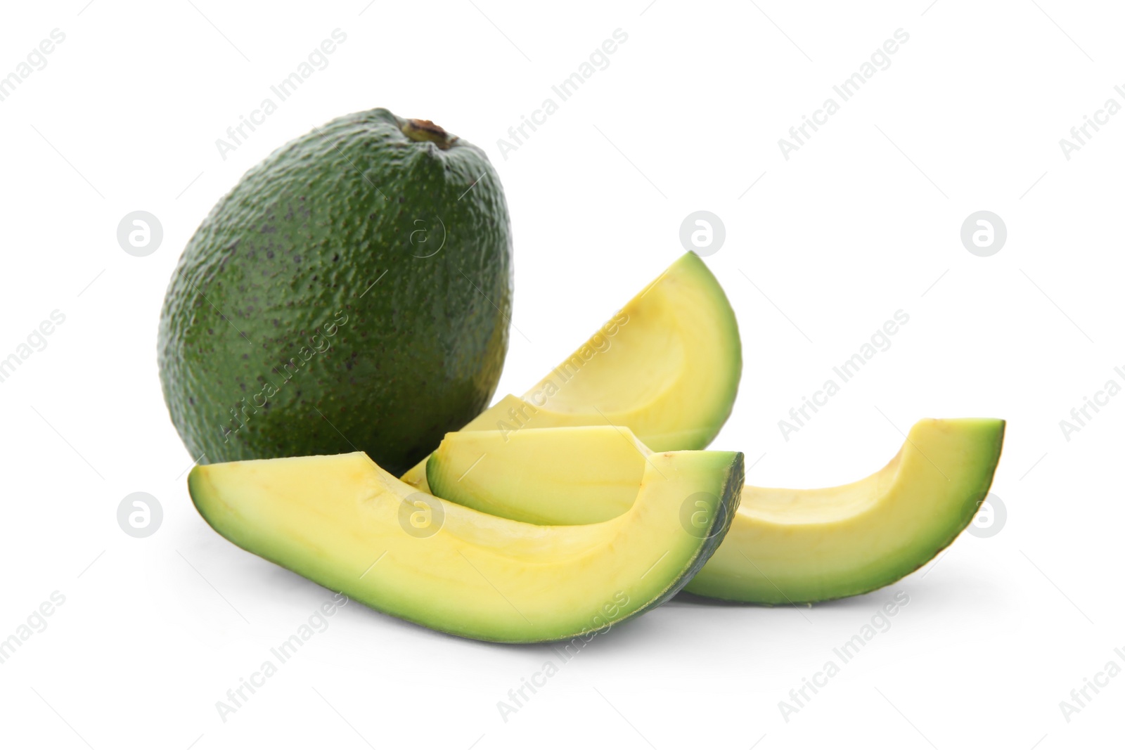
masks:
<path id="1" fill-rule="evenodd" d="M 538 526 L 418 493 L 362 452 L 197 466 L 188 479 L 200 515 L 242 549 L 380 612 L 506 643 L 609 629 L 675 595 L 719 545 L 741 485 L 741 453 L 652 455 L 622 515 Z"/>

